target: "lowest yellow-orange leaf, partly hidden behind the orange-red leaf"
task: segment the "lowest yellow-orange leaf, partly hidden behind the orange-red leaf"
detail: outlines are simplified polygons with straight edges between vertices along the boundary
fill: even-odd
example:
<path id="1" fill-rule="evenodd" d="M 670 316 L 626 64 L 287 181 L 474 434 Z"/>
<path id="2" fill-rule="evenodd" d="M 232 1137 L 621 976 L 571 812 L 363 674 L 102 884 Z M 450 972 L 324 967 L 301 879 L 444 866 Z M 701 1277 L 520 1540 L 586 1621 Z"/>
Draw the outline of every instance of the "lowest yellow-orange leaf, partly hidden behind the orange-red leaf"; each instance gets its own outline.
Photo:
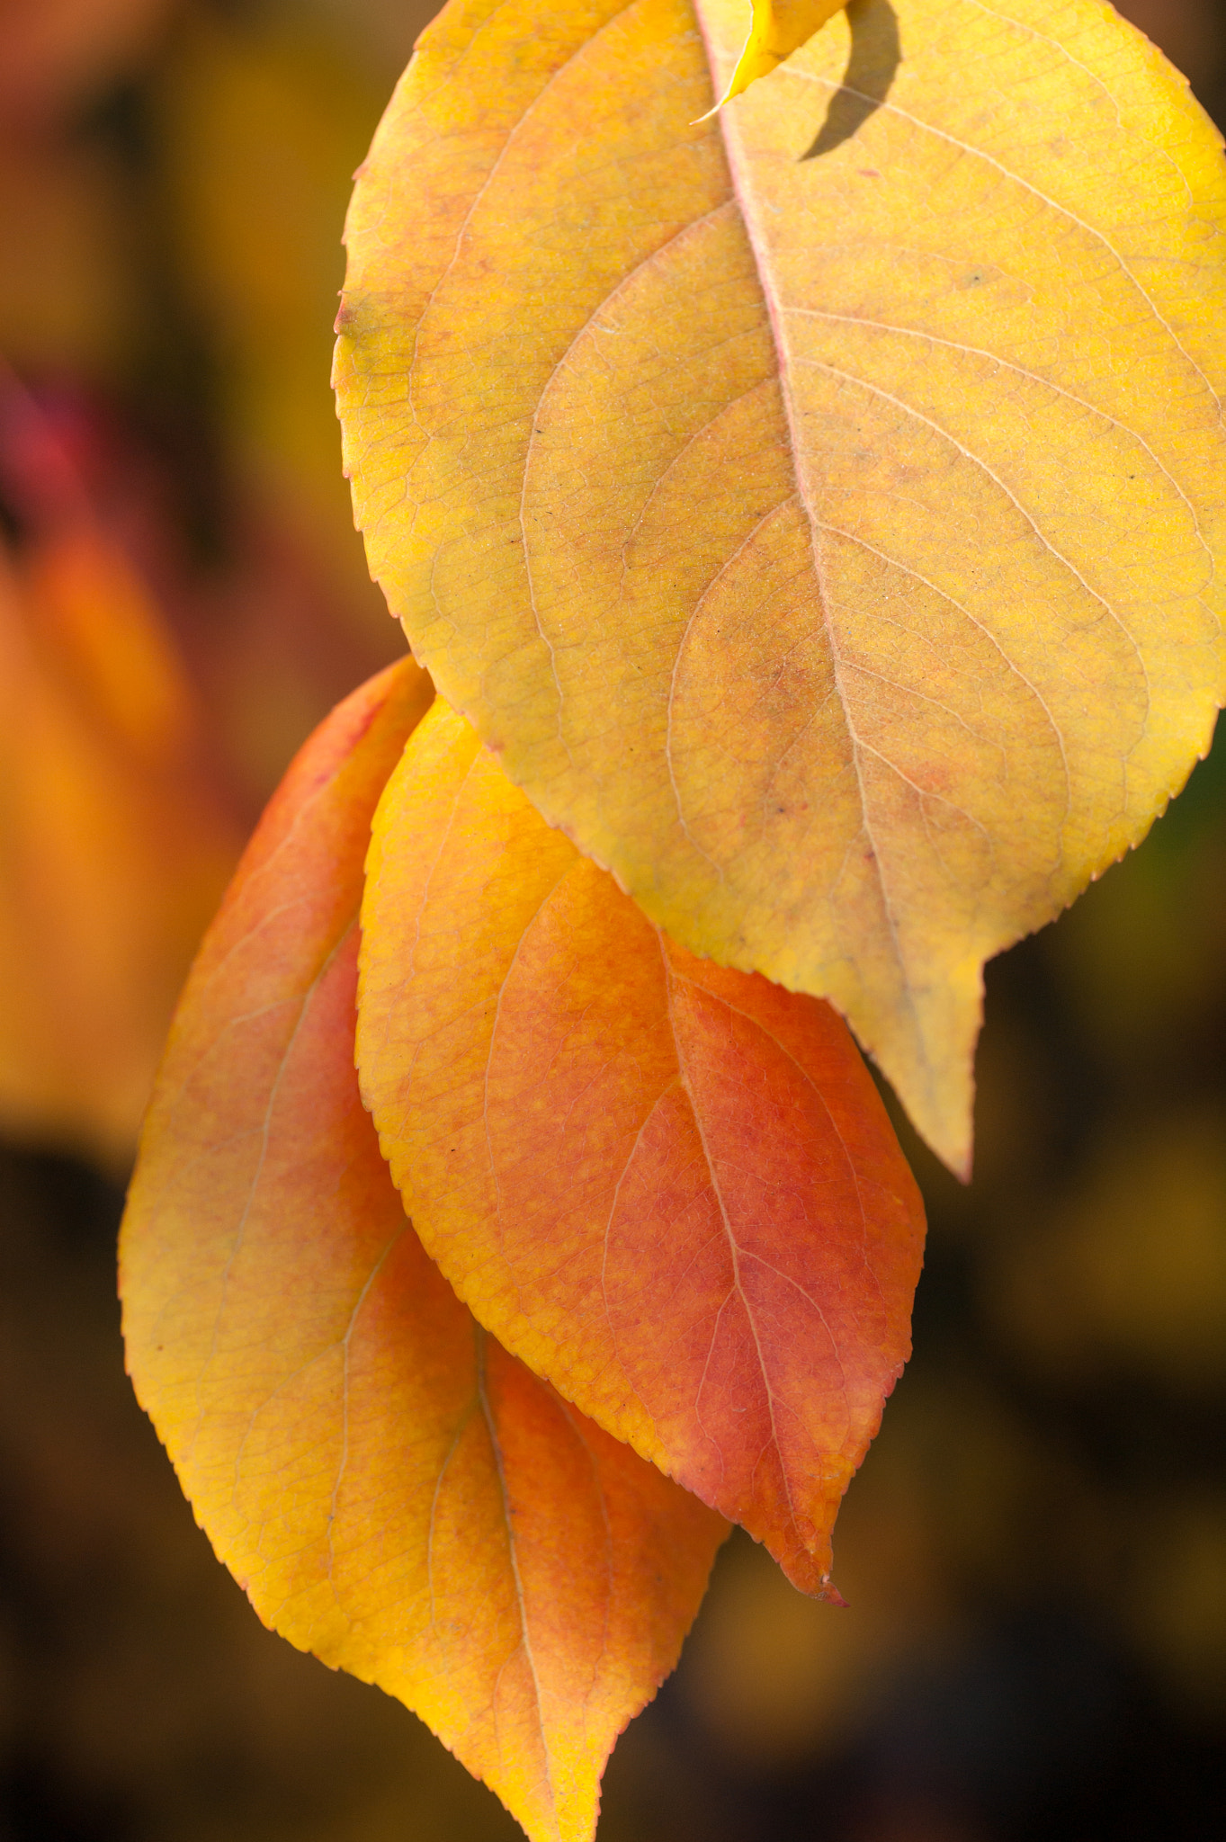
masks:
<path id="1" fill-rule="evenodd" d="M 405 661 L 328 718 L 204 943 L 123 1225 L 127 1359 L 265 1623 L 416 1709 L 534 1842 L 585 1842 L 725 1523 L 473 1323 L 361 1107 L 361 864 L 429 694 Z"/>

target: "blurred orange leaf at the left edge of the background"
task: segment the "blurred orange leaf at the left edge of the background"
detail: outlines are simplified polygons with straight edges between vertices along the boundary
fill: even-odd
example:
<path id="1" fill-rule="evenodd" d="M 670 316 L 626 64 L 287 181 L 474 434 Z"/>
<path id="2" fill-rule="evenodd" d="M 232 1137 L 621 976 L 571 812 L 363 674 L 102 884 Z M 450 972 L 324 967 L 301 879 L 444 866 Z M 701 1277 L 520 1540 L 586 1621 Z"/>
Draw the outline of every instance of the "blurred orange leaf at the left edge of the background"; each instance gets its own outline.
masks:
<path id="1" fill-rule="evenodd" d="M 237 858 L 166 619 L 0 372 L 0 1125 L 125 1170 Z"/>

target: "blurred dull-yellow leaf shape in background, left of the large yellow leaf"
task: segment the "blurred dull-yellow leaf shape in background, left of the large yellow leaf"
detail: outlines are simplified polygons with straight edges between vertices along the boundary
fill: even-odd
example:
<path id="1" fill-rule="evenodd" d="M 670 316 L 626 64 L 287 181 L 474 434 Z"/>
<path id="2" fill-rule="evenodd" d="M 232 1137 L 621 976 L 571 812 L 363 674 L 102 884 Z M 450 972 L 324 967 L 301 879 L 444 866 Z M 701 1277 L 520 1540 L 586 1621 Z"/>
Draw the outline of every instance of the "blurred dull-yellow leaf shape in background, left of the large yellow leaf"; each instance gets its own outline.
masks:
<path id="1" fill-rule="evenodd" d="M 175 254 L 225 352 L 226 464 L 247 514 L 271 523 L 331 619 L 368 648 L 377 595 L 337 479 L 324 367 L 337 227 L 379 94 L 302 15 L 210 11 L 184 26 L 156 129 Z"/>

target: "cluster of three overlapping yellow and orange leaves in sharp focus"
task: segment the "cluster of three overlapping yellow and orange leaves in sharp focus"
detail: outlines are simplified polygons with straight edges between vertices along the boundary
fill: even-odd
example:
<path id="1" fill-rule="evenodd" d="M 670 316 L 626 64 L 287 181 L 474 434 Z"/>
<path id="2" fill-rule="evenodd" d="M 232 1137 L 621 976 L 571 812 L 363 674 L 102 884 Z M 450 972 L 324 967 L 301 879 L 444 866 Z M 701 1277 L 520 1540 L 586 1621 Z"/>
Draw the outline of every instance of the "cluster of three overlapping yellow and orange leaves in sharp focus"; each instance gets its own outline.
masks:
<path id="1" fill-rule="evenodd" d="M 125 1332 L 260 1614 L 534 1838 L 725 1518 L 838 1599 L 922 1253 L 850 1030 L 966 1175 L 985 958 L 1208 746 L 1220 217 L 1095 0 L 451 0 L 359 173 L 412 659 L 201 950 Z"/>

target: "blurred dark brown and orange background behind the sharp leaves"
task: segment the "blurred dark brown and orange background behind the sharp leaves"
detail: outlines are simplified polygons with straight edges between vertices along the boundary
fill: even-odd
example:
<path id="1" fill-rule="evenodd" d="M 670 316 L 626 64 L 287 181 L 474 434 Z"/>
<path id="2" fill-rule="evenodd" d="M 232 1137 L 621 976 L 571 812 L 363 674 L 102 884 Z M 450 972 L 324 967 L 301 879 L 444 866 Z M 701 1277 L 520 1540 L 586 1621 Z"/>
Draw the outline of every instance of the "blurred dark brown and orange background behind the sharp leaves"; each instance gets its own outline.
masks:
<path id="1" fill-rule="evenodd" d="M 341 225 L 429 0 L 0 0 L 0 1842 L 512 1842 L 265 1632 L 123 1378 L 175 991 L 324 711 L 399 650 L 328 391 Z M 1220 0 L 1125 9 L 1226 109 Z M 976 1183 L 906 1135 L 917 1354 L 850 1610 L 736 1536 L 602 1842 L 1217 1838 L 1226 744 L 989 969 Z"/>

